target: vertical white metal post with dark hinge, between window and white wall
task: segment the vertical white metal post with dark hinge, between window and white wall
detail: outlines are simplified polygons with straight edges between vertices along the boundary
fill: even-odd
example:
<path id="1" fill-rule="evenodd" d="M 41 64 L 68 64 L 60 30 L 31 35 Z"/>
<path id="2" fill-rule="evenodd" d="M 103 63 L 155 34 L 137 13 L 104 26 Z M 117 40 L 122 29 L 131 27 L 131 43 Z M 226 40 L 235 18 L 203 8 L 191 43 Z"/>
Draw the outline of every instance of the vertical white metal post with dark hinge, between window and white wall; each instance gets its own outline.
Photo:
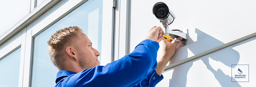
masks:
<path id="1" fill-rule="evenodd" d="M 131 22 L 131 0 L 116 0 L 114 9 L 114 50 L 113 60 L 118 60 L 130 53 L 130 22 Z"/>

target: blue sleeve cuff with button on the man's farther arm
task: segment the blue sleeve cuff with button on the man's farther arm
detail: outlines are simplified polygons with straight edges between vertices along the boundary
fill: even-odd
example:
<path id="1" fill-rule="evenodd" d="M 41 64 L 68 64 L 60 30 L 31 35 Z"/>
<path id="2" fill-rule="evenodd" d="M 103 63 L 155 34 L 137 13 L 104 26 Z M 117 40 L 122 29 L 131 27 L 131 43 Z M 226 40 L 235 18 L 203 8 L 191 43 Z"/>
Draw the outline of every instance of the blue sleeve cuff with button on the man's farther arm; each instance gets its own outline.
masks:
<path id="1" fill-rule="evenodd" d="M 147 85 L 148 87 L 155 87 L 162 79 L 164 79 L 163 75 L 159 76 L 155 69 L 151 69 L 148 71 L 147 77 L 133 87 L 145 87 Z"/>

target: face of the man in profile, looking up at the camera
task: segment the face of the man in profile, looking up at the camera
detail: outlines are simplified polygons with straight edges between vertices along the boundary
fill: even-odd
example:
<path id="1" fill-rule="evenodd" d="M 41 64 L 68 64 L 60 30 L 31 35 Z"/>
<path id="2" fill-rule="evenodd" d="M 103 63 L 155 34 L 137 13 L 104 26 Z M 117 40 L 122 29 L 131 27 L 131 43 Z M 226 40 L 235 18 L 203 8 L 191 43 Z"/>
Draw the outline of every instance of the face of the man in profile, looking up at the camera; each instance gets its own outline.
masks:
<path id="1" fill-rule="evenodd" d="M 79 61 L 79 65 L 82 69 L 90 69 L 95 67 L 96 65 L 100 65 L 100 61 L 98 60 L 98 56 L 100 53 L 92 47 L 91 40 L 87 37 L 86 34 L 80 34 L 81 38 L 77 38 L 77 51 L 78 56 L 77 60 Z"/>

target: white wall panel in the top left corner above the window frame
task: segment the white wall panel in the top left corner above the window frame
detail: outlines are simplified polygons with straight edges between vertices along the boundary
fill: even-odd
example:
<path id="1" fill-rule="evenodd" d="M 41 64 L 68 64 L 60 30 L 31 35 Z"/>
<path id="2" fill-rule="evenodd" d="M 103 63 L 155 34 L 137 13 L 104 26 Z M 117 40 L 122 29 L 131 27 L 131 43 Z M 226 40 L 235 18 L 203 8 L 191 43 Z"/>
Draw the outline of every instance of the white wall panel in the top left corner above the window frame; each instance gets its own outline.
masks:
<path id="1" fill-rule="evenodd" d="M 30 12 L 30 0 L 0 1 L 0 36 Z"/>

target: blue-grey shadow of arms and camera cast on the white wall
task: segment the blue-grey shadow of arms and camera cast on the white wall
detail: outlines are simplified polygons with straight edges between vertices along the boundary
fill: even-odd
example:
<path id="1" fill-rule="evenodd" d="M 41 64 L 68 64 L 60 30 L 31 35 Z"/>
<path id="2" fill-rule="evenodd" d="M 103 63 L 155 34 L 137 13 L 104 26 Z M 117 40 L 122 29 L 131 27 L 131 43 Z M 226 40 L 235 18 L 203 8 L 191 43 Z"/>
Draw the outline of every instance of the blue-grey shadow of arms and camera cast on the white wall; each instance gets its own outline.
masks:
<path id="1" fill-rule="evenodd" d="M 215 48 L 224 44 L 223 42 L 220 42 L 216 38 L 200 31 L 197 28 L 195 29 L 195 32 L 197 33 L 197 41 L 193 42 L 193 40 L 189 37 L 189 41 L 187 42 L 187 45 L 179 44 L 177 47 L 180 47 L 181 49 L 176 50 L 176 55 L 172 57 L 172 59 L 170 60 L 170 64 L 173 64 L 175 62 L 188 58 L 187 49 L 189 49 L 193 54 L 197 55 L 204 51 L 210 50 L 212 48 Z M 240 55 L 237 51 L 232 49 L 232 47 L 236 47 L 241 44 L 243 43 L 240 42 L 240 43 L 231 45 L 224 49 L 215 51 L 214 53 L 202 56 L 201 58 L 191 60 L 189 62 L 186 62 L 184 64 L 181 64 L 179 66 L 172 68 L 174 69 L 174 71 L 172 74 L 172 79 L 170 79 L 169 81 L 169 87 L 185 87 L 187 83 L 187 73 L 191 68 L 191 66 L 193 65 L 193 62 L 197 60 L 203 61 L 203 63 L 207 66 L 207 69 L 209 69 L 214 74 L 214 77 L 217 79 L 217 81 L 220 83 L 222 87 L 241 87 L 238 84 L 238 82 L 231 82 L 231 79 L 233 79 L 234 81 L 233 77 L 230 78 L 230 76 L 225 75 L 225 73 L 223 73 L 221 69 L 218 69 L 217 71 L 215 71 L 209 64 L 209 57 L 212 58 L 213 60 L 222 62 L 228 67 L 232 67 L 231 66 L 232 64 L 233 65 L 238 64 Z M 203 73 L 204 72 L 198 71 L 198 75 Z M 198 84 L 197 86 L 200 86 L 200 84 Z"/>

